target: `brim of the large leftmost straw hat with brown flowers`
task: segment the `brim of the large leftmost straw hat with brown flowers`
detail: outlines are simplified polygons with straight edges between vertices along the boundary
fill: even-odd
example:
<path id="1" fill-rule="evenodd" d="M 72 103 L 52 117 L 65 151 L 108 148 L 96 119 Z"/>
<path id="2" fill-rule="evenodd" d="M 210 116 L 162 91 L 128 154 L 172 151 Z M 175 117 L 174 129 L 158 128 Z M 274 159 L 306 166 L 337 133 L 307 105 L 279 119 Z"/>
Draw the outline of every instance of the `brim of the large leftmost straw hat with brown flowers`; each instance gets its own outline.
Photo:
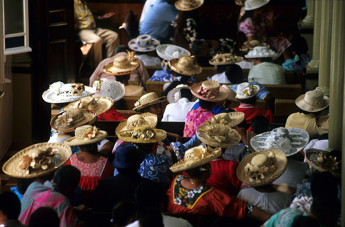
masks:
<path id="1" fill-rule="evenodd" d="M 43 169 L 35 169 L 31 170 L 29 174 L 25 173 L 24 169 L 21 169 L 19 167 L 20 163 L 23 161 L 23 156 L 31 153 L 34 150 L 42 150 L 45 151 L 47 148 L 52 148 L 52 149 L 58 149 L 58 154 L 61 155 L 63 158 L 62 162 L 60 165 L 58 165 L 56 168 L 55 166 L 51 163 L 48 164 L 48 168 L 43 170 Z M 17 178 L 35 178 L 35 177 L 40 177 L 44 176 L 52 171 L 57 170 L 59 167 L 61 167 L 63 164 L 65 164 L 68 159 L 72 155 L 72 150 L 68 145 L 65 145 L 63 143 L 37 143 L 34 145 L 31 145 L 15 155 L 13 155 L 2 167 L 2 171 L 6 173 L 7 175 L 11 177 L 17 177 Z"/>

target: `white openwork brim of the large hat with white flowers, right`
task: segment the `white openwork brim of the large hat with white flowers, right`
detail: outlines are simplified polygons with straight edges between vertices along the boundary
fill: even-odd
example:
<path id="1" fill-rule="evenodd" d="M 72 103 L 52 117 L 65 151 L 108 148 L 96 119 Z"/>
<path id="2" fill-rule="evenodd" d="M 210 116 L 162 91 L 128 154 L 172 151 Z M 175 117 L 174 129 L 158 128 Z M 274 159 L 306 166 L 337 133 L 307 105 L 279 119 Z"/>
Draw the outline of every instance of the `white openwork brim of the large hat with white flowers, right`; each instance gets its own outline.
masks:
<path id="1" fill-rule="evenodd" d="M 286 156 L 290 156 L 298 153 L 302 150 L 309 142 L 309 134 L 303 129 L 289 128 L 287 129 L 291 138 L 292 149 L 289 152 L 285 152 Z M 266 139 L 271 134 L 271 132 L 264 132 L 257 136 L 254 136 L 250 140 L 250 144 L 256 151 L 269 149 Z"/>

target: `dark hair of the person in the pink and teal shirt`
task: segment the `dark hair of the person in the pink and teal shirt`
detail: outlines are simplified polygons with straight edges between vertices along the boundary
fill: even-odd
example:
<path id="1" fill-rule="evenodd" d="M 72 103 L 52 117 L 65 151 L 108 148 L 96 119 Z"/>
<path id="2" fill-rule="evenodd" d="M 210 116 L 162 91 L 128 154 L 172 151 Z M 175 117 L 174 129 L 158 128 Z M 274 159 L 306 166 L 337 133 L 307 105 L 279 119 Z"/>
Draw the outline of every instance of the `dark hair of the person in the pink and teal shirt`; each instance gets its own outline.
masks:
<path id="1" fill-rule="evenodd" d="M 80 174 L 80 171 L 73 165 L 62 165 L 55 173 L 53 181 L 59 188 L 68 189 L 71 187 L 75 189 L 79 184 Z"/>

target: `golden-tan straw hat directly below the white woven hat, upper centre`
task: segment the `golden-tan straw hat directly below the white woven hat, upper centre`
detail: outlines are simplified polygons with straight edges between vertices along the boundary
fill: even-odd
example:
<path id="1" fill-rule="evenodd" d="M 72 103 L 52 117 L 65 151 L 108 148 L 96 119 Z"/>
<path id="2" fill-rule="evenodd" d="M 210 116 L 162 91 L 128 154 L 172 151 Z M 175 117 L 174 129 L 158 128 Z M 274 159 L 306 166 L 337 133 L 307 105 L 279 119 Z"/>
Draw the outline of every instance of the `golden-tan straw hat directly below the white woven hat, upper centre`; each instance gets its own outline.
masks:
<path id="1" fill-rule="evenodd" d="M 194 56 L 171 59 L 169 60 L 169 67 L 176 73 L 186 76 L 195 76 L 196 74 L 201 73 L 202 70 Z"/>

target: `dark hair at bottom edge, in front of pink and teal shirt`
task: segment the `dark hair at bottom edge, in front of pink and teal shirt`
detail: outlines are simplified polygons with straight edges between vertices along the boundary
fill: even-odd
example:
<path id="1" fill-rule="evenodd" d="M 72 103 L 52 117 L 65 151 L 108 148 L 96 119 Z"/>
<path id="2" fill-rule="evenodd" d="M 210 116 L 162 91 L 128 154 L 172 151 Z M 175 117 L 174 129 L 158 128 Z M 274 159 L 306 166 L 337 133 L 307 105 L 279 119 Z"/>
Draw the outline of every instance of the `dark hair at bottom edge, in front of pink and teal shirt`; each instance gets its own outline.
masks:
<path id="1" fill-rule="evenodd" d="M 60 218 L 51 207 L 40 207 L 35 210 L 29 219 L 29 227 L 59 227 Z"/>

